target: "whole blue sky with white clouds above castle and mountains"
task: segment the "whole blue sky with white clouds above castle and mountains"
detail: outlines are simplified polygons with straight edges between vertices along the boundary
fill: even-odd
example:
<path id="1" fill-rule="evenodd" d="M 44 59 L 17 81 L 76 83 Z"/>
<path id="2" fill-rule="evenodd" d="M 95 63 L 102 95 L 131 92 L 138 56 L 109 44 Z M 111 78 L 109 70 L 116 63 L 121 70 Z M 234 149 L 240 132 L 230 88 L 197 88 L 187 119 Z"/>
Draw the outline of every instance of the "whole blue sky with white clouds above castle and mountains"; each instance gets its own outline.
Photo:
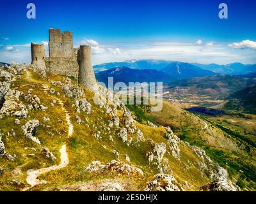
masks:
<path id="1" fill-rule="evenodd" d="M 26 18 L 35 3 L 36 19 Z M 218 5 L 228 5 L 220 19 Z M 126 59 L 256 63 L 256 1 L 1 1 L 0 61 L 30 62 L 49 27 L 92 46 L 93 64 Z M 46 46 L 47 48 L 47 46 Z"/>

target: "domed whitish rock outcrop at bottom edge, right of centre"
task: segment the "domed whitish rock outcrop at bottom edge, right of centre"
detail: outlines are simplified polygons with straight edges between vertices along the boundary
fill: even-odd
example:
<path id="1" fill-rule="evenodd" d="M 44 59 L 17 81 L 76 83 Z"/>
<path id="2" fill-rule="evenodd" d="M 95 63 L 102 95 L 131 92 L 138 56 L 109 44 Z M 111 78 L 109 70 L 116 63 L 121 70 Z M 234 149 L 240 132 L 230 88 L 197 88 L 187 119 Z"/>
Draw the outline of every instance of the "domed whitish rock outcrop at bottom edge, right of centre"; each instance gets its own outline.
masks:
<path id="1" fill-rule="evenodd" d="M 164 173 L 154 175 L 154 180 L 147 182 L 145 191 L 184 191 L 179 186 L 177 180 L 172 176 Z"/>

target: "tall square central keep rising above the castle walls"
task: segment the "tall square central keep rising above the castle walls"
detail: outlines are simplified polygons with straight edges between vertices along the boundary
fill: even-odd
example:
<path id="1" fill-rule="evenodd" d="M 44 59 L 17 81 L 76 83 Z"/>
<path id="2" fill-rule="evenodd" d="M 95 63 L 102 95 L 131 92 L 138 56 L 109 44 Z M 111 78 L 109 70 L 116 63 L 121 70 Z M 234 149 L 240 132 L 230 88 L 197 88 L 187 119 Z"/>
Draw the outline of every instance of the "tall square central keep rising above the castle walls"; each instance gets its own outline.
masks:
<path id="1" fill-rule="evenodd" d="M 72 57 L 73 54 L 72 32 L 49 29 L 49 57 Z"/>

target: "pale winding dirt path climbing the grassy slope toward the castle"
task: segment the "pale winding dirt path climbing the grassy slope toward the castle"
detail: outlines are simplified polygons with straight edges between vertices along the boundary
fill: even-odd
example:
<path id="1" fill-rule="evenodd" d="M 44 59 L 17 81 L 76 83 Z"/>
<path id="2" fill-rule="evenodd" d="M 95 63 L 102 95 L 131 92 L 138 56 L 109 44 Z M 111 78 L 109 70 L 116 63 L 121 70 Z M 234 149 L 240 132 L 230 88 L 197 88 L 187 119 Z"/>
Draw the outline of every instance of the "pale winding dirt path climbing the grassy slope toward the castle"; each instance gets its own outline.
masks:
<path id="1" fill-rule="evenodd" d="M 65 107 L 63 106 L 63 101 L 61 101 L 60 99 L 57 99 L 57 100 L 58 100 L 58 103 L 61 105 L 61 108 L 65 112 L 66 122 L 68 124 L 68 136 L 70 136 L 73 133 L 73 125 L 70 122 L 70 115 L 69 115 L 68 111 L 65 109 Z M 68 160 L 68 154 L 67 154 L 67 147 L 65 144 L 63 144 L 61 146 L 60 154 L 61 154 L 61 156 L 60 156 L 61 163 L 58 166 L 54 165 L 54 166 L 49 166 L 47 168 L 41 168 L 39 170 L 28 170 L 27 171 L 26 181 L 28 182 L 28 184 L 31 187 L 36 186 L 38 184 L 45 183 L 45 181 L 40 181 L 39 179 L 37 179 L 41 174 L 47 173 L 47 172 L 53 171 L 53 170 L 58 170 L 60 168 L 64 168 L 65 166 L 67 166 L 67 164 L 69 163 L 69 160 Z"/>

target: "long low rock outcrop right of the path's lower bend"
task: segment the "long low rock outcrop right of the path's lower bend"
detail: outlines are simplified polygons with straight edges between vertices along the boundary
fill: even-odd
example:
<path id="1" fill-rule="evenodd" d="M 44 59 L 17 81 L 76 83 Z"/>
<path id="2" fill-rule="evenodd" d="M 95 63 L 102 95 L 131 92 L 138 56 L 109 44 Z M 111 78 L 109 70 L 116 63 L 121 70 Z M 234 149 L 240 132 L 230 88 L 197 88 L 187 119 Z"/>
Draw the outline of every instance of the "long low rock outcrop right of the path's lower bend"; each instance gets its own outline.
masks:
<path id="1" fill-rule="evenodd" d="M 95 172 L 95 173 L 104 173 L 104 174 L 123 174 L 123 175 L 136 175 L 138 177 L 143 177 L 143 171 L 136 167 L 131 166 L 130 164 L 121 163 L 120 161 L 112 160 L 110 163 L 104 165 L 100 161 L 93 161 L 91 164 L 86 166 L 85 171 Z"/>

